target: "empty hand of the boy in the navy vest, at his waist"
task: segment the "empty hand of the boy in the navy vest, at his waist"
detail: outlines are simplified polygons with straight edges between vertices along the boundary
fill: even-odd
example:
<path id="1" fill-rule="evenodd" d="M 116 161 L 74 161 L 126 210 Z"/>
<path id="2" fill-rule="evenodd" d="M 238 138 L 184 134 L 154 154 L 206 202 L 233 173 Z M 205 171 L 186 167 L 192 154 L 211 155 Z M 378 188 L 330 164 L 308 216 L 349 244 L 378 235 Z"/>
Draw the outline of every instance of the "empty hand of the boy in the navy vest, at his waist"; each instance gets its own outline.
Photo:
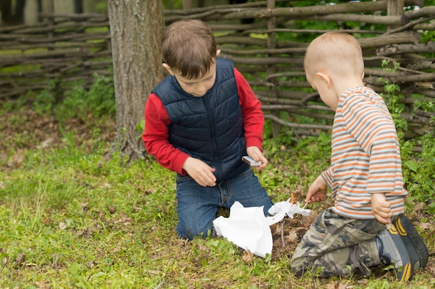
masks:
<path id="1" fill-rule="evenodd" d="M 216 177 L 213 175 L 215 168 L 208 166 L 204 161 L 188 157 L 183 164 L 183 170 L 186 170 L 188 175 L 195 179 L 199 186 L 215 186 Z"/>

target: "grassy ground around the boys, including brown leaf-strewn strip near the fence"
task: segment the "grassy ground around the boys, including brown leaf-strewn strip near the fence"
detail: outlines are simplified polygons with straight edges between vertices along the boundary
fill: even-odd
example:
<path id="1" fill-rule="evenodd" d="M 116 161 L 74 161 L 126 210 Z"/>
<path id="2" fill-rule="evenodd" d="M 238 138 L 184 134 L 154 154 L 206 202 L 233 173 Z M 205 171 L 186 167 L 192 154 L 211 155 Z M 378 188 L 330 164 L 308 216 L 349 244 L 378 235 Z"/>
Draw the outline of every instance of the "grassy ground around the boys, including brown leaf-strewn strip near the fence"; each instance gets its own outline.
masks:
<path id="1" fill-rule="evenodd" d="M 113 121 L 70 121 L 60 134 L 28 110 L 0 117 L 0 288 L 404 288 L 382 268 L 371 279 L 299 278 L 290 254 L 245 259 L 223 238 L 180 240 L 174 175 L 151 159 L 104 161 Z M 265 142 L 271 164 L 258 173 L 274 201 L 304 195 L 329 154 L 325 137 L 281 141 Z M 423 236 L 434 252 L 434 229 Z M 434 288 L 433 272 L 408 287 Z"/>

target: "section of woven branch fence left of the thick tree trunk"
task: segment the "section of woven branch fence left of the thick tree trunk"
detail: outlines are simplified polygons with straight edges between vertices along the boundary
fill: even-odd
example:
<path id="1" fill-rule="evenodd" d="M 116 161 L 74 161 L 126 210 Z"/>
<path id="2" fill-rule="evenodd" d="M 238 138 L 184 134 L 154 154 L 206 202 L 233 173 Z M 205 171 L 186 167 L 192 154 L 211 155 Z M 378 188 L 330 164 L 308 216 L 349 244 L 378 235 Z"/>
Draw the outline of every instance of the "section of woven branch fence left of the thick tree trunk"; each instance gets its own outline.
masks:
<path id="1" fill-rule="evenodd" d="M 44 15 L 34 26 L 0 27 L 0 100 L 46 89 L 49 80 L 67 86 L 110 75 L 108 17 L 98 14 Z M 22 72 L 8 73 L 10 67 Z"/>

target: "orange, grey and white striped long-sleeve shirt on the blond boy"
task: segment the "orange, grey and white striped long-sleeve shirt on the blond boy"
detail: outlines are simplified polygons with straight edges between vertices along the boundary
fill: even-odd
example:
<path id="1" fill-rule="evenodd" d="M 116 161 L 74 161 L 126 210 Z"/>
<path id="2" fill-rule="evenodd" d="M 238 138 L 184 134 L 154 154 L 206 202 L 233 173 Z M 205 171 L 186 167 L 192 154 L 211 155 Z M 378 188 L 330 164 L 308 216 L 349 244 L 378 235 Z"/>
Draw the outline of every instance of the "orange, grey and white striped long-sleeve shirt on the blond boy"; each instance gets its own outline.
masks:
<path id="1" fill-rule="evenodd" d="M 393 215 L 404 213 L 402 163 L 395 124 L 384 100 L 368 87 L 338 99 L 331 166 L 322 173 L 340 216 L 374 219 L 371 193 L 386 193 Z"/>

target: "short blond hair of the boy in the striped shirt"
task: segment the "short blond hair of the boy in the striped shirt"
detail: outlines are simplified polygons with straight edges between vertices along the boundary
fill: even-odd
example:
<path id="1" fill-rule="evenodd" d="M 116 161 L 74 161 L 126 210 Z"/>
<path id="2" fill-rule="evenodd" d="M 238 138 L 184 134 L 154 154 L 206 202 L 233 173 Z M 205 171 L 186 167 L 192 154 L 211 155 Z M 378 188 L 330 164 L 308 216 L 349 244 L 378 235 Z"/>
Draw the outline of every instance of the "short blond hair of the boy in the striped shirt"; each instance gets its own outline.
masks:
<path id="1" fill-rule="evenodd" d="M 337 76 L 361 76 L 364 61 L 361 46 L 349 34 L 328 32 L 311 42 L 304 57 L 307 76 L 329 71 Z"/>

